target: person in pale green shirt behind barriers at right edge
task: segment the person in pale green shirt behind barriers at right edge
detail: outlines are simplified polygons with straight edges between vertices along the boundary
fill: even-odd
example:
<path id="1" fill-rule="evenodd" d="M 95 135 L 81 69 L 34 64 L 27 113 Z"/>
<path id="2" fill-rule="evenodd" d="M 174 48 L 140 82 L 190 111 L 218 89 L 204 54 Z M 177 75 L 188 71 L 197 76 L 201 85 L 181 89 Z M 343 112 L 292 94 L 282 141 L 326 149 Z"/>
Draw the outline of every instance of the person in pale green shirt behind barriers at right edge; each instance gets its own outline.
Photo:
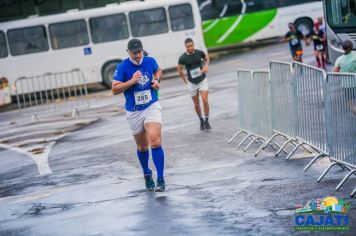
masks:
<path id="1" fill-rule="evenodd" d="M 356 73 L 356 55 L 352 54 L 353 44 L 350 40 L 342 42 L 344 55 L 335 62 L 334 72 Z M 353 84 L 342 84 L 350 109 L 356 113 L 356 81 Z"/>

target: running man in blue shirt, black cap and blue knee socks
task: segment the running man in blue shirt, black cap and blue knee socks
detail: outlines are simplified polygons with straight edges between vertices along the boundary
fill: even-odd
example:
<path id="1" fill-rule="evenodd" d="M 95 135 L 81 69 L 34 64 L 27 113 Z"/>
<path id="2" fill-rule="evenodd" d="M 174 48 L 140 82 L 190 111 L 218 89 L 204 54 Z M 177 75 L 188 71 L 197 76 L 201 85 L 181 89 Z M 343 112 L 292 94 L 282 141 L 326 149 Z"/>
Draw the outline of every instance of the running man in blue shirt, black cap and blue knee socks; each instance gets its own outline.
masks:
<path id="1" fill-rule="evenodd" d="M 114 95 L 124 93 L 126 118 L 137 145 L 137 156 L 143 169 L 146 189 L 165 191 L 164 151 L 161 145 L 161 106 L 156 91 L 160 88 L 162 70 L 156 60 L 144 56 L 139 39 L 128 42 L 129 57 L 116 68 L 112 82 Z M 157 169 L 157 185 L 149 168 L 149 151 Z"/>

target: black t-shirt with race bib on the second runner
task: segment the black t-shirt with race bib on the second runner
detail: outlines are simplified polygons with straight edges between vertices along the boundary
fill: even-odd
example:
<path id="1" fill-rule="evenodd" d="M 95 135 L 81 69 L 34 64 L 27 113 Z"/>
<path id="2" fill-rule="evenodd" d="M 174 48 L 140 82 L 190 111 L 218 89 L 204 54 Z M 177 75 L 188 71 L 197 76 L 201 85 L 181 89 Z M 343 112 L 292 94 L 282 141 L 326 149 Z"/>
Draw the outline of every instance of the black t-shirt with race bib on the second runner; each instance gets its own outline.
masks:
<path id="1" fill-rule="evenodd" d="M 188 80 L 193 84 L 199 84 L 205 79 L 206 75 L 201 73 L 205 57 L 205 53 L 198 49 L 195 49 L 193 54 L 184 53 L 179 57 L 178 64 L 185 66 Z"/>

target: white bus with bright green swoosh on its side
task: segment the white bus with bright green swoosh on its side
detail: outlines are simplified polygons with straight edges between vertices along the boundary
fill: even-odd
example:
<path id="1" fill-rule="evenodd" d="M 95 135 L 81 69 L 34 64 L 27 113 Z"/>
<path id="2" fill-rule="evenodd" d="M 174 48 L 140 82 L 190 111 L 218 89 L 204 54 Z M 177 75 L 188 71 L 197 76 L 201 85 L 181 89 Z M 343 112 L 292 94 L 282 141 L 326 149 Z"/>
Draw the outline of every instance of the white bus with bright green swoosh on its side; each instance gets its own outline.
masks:
<path id="1" fill-rule="evenodd" d="M 331 0 L 332 1 L 332 0 Z M 198 0 L 208 49 L 283 37 L 292 22 L 309 34 L 323 17 L 321 0 Z"/>

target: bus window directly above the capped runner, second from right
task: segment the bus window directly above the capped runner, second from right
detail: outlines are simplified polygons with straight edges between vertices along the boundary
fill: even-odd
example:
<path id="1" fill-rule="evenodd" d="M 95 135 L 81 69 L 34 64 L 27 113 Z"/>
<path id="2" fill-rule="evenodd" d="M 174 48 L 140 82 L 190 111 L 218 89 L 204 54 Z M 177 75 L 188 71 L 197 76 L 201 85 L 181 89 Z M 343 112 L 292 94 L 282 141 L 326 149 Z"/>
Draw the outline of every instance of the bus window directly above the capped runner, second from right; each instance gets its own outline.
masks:
<path id="1" fill-rule="evenodd" d="M 129 17 L 134 37 L 168 32 L 168 23 L 164 8 L 130 12 Z"/>

